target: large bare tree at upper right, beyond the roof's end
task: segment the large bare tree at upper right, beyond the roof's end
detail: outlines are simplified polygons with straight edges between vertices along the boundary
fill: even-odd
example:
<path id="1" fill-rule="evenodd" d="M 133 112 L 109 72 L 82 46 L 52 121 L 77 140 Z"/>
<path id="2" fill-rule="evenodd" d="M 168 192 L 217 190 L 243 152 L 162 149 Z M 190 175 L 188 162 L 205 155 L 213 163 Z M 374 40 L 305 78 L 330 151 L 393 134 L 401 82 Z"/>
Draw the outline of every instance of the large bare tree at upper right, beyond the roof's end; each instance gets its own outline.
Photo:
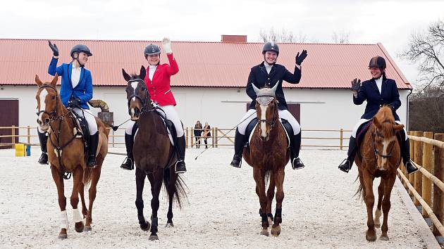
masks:
<path id="1" fill-rule="evenodd" d="M 412 34 L 407 49 L 399 54 L 419 63 L 419 84 L 422 89 L 432 85 L 444 88 L 444 23 L 432 23 L 426 32 Z"/>

